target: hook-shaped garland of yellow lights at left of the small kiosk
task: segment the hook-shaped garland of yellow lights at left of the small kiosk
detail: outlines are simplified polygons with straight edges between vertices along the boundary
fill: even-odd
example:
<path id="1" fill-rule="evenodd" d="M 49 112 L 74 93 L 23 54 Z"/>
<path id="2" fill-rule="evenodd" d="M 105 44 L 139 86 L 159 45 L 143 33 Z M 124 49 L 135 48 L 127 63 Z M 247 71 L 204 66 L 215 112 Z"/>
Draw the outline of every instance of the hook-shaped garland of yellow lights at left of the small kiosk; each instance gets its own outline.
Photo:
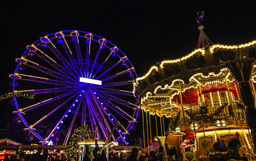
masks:
<path id="1" fill-rule="evenodd" d="M 67 148 L 67 160 L 75 161 L 78 159 L 77 146 L 80 142 L 81 135 L 83 135 L 83 139 L 86 140 L 92 138 L 92 133 L 88 125 L 82 125 L 81 127 L 75 129 L 74 133 L 72 134 L 72 137 L 70 138 L 69 145 Z"/>

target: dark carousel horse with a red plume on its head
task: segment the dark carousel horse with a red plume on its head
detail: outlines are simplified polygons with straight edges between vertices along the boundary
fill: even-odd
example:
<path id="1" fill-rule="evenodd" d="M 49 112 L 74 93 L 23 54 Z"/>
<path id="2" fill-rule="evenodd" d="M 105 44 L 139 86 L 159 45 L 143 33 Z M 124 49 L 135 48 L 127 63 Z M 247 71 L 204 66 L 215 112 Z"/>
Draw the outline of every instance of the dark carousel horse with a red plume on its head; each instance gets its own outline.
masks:
<path id="1" fill-rule="evenodd" d="M 234 138 L 231 138 L 228 143 L 228 148 L 226 152 L 211 152 L 209 153 L 209 160 L 210 161 L 227 161 L 230 159 L 235 160 L 244 160 L 248 161 L 248 159 L 245 156 L 240 156 L 239 154 L 239 147 L 241 147 L 241 142 L 239 140 L 239 133 L 236 132 L 234 134 Z"/>

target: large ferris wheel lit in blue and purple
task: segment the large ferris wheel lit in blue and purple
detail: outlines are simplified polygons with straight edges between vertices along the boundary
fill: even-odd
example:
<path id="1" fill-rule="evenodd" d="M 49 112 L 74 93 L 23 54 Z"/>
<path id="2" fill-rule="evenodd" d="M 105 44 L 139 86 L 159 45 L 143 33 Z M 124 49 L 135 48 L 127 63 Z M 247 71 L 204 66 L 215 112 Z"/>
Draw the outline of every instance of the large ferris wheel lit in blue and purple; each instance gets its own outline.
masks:
<path id="1" fill-rule="evenodd" d="M 59 31 L 28 45 L 16 62 L 14 74 L 9 76 L 13 78 L 13 92 L 35 94 L 38 101 L 21 107 L 18 98 L 13 98 L 17 110 L 14 113 L 25 124 L 25 130 L 47 144 L 69 121 L 66 145 L 74 124 L 89 122 L 92 128 L 97 125 L 99 139 L 107 139 L 116 128 L 113 140 L 127 144 L 125 136 L 140 110 L 132 91 L 137 74 L 114 44 L 85 31 Z M 45 116 L 30 120 L 25 117 L 26 113 L 45 107 L 50 109 Z M 36 126 L 53 115 L 58 121 L 43 138 Z"/>

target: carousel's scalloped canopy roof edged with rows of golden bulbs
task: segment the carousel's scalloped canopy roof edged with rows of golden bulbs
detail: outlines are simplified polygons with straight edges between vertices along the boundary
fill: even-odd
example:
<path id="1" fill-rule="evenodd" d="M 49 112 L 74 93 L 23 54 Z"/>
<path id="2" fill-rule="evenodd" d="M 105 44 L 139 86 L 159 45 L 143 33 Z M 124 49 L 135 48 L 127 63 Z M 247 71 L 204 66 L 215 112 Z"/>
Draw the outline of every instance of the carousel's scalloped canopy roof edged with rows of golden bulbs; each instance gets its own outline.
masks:
<path id="1" fill-rule="evenodd" d="M 157 115 L 170 117 L 170 111 L 181 104 L 181 97 L 185 108 L 189 106 L 188 89 L 192 105 L 198 105 L 200 99 L 213 92 L 226 94 L 230 90 L 234 97 L 238 96 L 238 84 L 225 64 L 255 61 L 256 40 L 239 45 L 213 44 L 201 30 L 198 44 L 202 48 L 178 59 L 162 61 L 152 66 L 146 75 L 136 79 L 135 96 L 144 110 L 154 114 L 156 106 Z M 254 77 L 256 69 L 252 72 L 255 82 Z"/>

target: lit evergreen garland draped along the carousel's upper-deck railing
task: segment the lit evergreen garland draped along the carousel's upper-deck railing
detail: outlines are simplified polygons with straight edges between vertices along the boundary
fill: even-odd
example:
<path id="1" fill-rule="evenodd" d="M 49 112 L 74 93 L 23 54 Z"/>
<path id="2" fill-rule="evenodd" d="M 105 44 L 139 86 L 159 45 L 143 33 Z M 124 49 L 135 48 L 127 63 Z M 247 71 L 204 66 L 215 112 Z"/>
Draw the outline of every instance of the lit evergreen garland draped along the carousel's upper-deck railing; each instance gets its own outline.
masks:
<path id="1" fill-rule="evenodd" d="M 222 110 L 227 106 L 228 104 L 225 103 L 223 104 L 221 107 L 217 108 L 217 110 L 214 112 L 214 114 L 196 114 L 194 115 L 194 120 L 196 122 L 198 121 L 211 121 L 214 117 L 217 117 L 219 113 L 222 112 Z M 188 114 L 188 116 L 190 118 L 192 118 L 192 114 L 189 111 L 184 111 L 186 114 Z M 179 112 L 176 116 L 176 118 L 174 119 L 174 121 L 172 123 L 169 123 L 168 125 L 168 131 L 172 131 L 175 127 L 177 127 L 177 123 L 178 120 L 180 119 L 180 114 L 181 112 Z"/>

